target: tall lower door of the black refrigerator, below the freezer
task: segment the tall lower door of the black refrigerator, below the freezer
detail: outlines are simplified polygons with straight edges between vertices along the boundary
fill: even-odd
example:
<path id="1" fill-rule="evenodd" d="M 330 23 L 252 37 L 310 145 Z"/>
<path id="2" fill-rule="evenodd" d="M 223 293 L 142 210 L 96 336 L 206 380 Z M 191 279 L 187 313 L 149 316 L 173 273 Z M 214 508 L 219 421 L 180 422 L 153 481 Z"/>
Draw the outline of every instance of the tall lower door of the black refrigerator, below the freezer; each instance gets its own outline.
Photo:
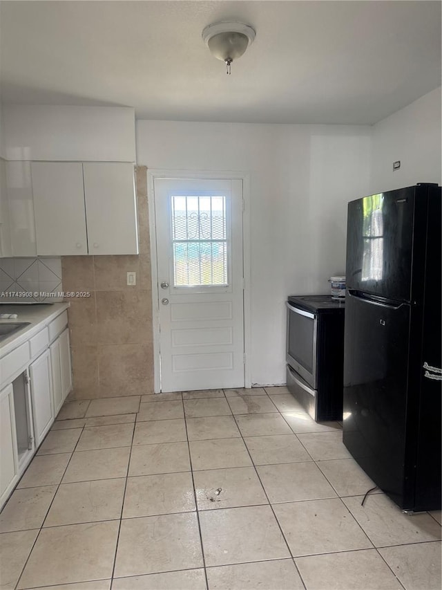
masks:
<path id="1" fill-rule="evenodd" d="M 345 302 L 343 441 L 377 486 L 403 498 L 410 306 Z"/>

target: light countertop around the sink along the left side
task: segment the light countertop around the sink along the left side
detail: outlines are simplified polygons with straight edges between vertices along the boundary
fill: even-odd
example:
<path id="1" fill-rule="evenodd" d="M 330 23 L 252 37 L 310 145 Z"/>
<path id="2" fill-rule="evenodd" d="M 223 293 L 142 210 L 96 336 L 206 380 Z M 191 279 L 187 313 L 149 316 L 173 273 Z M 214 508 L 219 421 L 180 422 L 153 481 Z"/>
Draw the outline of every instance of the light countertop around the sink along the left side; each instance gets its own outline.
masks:
<path id="1" fill-rule="evenodd" d="M 30 305 L 0 305 L 0 313 L 17 313 L 14 320 L 0 320 L 0 324 L 16 324 L 18 322 L 30 322 L 22 330 L 15 332 L 0 341 L 0 357 L 5 356 L 10 351 L 17 348 L 23 342 L 26 342 L 33 335 L 37 334 L 44 326 L 47 326 L 52 320 L 60 315 L 70 306 L 68 302 L 50 303 L 50 304 L 30 304 Z"/>

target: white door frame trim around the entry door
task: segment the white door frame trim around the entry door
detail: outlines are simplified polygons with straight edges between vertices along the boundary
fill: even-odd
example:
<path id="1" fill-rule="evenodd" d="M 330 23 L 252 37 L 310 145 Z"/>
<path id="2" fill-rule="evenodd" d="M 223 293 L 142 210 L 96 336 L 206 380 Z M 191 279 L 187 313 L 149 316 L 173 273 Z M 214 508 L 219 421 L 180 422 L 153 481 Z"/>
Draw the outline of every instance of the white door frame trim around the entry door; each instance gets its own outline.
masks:
<path id="1" fill-rule="evenodd" d="M 160 393 L 160 297 L 158 294 L 157 268 L 157 228 L 155 225 L 155 180 L 168 179 L 206 179 L 242 180 L 242 264 L 244 274 L 243 322 L 244 322 L 244 387 L 251 387 L 251 315 L 250 315 L 250 175 L 248 172 L 216 172 L 177 169 L 147 169 L 147 202 L 149 231 L 151 240 L 151 278 L 152 278 L 152 328 L 153 328 L 153 390 Z"/>

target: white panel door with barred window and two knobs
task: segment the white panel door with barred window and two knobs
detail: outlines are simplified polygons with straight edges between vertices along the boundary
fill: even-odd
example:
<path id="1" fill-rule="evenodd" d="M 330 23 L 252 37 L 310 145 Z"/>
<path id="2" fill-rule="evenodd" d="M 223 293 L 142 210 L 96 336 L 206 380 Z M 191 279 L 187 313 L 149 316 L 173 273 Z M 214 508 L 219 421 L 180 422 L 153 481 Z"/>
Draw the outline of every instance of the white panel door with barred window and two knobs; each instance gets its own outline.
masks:
<path id="1" fill-rule="evenodd" d="M 161 390 L 244 387 L 242 181 L 154 192 Z"/>

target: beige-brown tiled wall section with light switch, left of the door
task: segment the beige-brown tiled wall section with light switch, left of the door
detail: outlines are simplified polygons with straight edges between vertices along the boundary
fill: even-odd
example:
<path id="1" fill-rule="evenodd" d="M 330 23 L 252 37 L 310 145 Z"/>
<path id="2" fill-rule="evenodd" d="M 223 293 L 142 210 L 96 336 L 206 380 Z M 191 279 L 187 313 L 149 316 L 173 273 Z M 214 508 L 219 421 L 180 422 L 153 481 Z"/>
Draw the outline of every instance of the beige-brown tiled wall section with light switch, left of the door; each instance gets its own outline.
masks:
<path id="1" fill-rule="evenodd" d="M 61 257 L 68 299 L 73 391 L 69 399 L 153 393 L 151 248 L 147 171 L 136 168 L 139 255 Z M 135 285 L 127 273 L 135 272 Z"/>

